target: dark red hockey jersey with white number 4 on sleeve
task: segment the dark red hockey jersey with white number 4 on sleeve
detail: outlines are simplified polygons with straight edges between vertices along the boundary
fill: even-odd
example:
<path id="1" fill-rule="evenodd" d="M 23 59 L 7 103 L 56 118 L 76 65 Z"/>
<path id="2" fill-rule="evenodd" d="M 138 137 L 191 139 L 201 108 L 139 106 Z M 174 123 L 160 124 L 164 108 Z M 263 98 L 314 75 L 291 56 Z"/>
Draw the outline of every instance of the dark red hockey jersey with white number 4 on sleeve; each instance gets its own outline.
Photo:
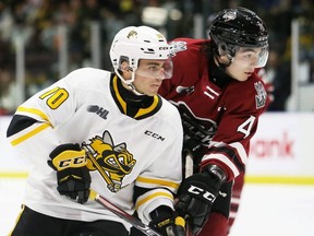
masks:
<path id="1" fill-rule="evenodd" d="M 204 39 L 174 42 L 173 75 L 164 80 L 159 94 L 180 110 L 184 134 L 206 146 L 201 166 L 217 164 L 232 180 L 244 172 L 250 140 L 267 107 L 265 84 L 253 73 L 244 82 L 231 80 L 221 88 L 209 80 L 207 56 L 201 51 Z"/>

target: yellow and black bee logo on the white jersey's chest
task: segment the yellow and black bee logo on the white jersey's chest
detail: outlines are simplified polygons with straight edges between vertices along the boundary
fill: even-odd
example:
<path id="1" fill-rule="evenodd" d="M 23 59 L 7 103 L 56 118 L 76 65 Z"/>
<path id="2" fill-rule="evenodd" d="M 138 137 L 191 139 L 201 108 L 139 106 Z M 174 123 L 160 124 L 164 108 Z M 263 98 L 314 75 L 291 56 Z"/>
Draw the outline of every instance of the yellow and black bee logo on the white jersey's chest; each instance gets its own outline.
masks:
<path id="1" fill-rule="evenodd" d="M 98 170 L 107 182 L 108 189 L 118 192 L 122 189 L 123 178 L 132 172 L 136 161 L 126 150 L 125 143 L 113 144 L 107 130 L 102 137 L 96 135 L 89 141 L 83 143 L 83 148 L 92 155 L 88 155 L 87 168 Z"/>

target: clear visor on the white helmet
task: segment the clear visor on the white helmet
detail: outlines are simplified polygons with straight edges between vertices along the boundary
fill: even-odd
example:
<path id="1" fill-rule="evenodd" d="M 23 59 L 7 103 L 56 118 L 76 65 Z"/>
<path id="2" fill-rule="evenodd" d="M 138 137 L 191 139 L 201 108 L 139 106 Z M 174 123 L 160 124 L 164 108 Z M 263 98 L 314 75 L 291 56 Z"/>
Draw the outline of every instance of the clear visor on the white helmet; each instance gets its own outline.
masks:
<path id="1" fill-rule="evenodd" d="M 171 58 L 167 60 L 145 60 L 140 61 L 140 67 L 135 70 L 135 74 L 152 79 L 170 79 L 173 72 L 173 63 Z"/>

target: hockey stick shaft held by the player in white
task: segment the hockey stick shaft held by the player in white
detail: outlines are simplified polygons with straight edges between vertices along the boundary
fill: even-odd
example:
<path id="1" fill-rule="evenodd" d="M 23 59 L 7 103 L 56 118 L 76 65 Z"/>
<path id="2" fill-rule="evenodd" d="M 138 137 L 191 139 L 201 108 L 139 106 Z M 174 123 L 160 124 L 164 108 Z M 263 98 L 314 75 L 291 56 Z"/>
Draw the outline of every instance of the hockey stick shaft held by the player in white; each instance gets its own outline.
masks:
<path id="1" fill-rule="evenodd" d="M 129 222 L 131 225 L 136 227 L 138 231 L 141 231 L 145 235 L 148 235 L 148 236 L 162 236 L 159 233 L 157 233 L 156 231 L 154 231 L 153 228 L 150 228 L 148 225 L 146 225 L 143 222 L 141 222 L 138 219 L 130 215 L 128 212 L 123 211 L 122 209 L 120 209 L 119 206 L 113 204 L 112 202 L 108 201 L 102 196 L 98 194 L 93 189 L 90 189 L 89 199 L 96 201 L 97 203 L 99 203 L 104 208 L 106 208 L 109 211 L 111 211 L 113 214 L 116 214 L 119 217 L 123 219 L 124 221 Z"/>

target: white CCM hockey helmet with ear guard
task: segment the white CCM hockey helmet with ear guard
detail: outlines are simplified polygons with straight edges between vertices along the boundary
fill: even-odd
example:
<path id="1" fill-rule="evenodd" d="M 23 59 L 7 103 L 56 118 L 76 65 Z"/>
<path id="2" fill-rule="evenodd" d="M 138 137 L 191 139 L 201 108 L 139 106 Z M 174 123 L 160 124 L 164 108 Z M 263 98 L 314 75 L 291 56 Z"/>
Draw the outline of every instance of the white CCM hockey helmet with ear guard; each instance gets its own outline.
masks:
<path id="1" fill-rule="evenodd" d="M 167 60 L 169 58 L 170 46 L 167 39 L 160 32 L 148 26 L 122 28 L 114 36 L 110 48 L 114 72 L 126 84 L 134 81 L 140 59 Z M 131 80 L 125 81 L 121 75 L 122 61 L 128 61 L 133 71 Z"/>

